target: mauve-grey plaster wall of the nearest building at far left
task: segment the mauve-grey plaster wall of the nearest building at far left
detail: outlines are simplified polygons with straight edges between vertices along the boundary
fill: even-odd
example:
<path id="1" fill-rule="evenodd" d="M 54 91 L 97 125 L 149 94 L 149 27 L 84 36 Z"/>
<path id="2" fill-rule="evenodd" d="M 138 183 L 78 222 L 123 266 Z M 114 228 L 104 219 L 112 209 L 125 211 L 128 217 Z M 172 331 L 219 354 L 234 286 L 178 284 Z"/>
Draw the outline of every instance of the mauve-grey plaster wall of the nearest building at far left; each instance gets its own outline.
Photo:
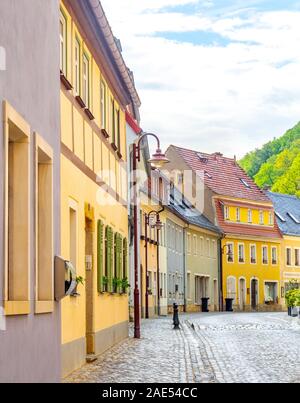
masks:
<path id="1" fill-rule="evenodd" d="M 1 382 L 60 380 L 60 310 L 35 315 L 35 235 L 33 131 L 54 151 L 54 254 L 60 254 L 60 137 L 59 137 L 59 2 L 10 0 L 0 2 L 0 46 L 6 69 L 0 71 L 0 120 L 7 100 L 31 127 L 30 162 L 30 296 L 31 313 L 6 318 L 0 330 Z M 41 35 L 41 32 L 43 33 Z M 0 126 L 3 139 L 3 125 Z M 1 172 L 3 147 L 0 145 Z M 0 222 L 3 223 L 3 175 L 0 175 Z M 2 225 L 1 225 L 2 229 Z M 3 301 L 3 231 L 0 232 L 0 300 Z M 2 305 L 2 303 L 0 304 Z"/>

